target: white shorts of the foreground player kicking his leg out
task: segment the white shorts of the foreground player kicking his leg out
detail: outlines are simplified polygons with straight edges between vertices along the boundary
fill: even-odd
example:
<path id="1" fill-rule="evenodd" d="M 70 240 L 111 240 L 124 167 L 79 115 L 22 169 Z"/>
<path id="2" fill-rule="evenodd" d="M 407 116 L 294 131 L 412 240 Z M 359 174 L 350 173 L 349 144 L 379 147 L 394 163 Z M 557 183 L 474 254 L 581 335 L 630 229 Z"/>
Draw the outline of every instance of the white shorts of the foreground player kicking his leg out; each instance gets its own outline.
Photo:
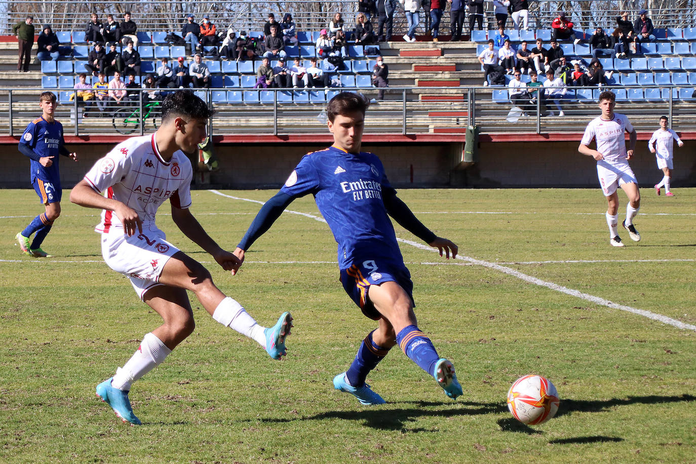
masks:
<path id="1" fill-rule="evenodd" d="M 164 264 L 178 248 L 164 239 L 163 232 L 128 237 L 118 228 L 102 234 L 102 257 L 111 269 L 130 279 L 138 296 L 159 283 Z"/>

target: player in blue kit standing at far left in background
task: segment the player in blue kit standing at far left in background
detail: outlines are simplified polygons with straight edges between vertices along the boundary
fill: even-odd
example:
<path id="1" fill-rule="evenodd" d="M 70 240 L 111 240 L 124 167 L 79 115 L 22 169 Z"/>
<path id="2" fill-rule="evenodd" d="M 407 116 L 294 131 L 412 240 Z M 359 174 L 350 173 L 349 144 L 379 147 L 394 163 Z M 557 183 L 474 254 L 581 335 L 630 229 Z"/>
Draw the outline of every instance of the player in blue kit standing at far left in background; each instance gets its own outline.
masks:
<path id="1" fill-rule="evenodd" d="M 33 257 L 50 257 L 41 249 L 54 221 L 61 215 L 61 173 L 58 170 L 58 155 L 77 161 L 77 153 L 70 153 L 63 141 L 63 125 L 56 121 L 56 95 L 44 92 L 39 97 L 42 115 L 29 122 L 19 139 L 19 152 L 31 159 L 31 185 L 45 205 L 46 211 L 39 214 L 15 238 L 22 253 Z M 36 232 L 33 241 L 29 237 Z"/>

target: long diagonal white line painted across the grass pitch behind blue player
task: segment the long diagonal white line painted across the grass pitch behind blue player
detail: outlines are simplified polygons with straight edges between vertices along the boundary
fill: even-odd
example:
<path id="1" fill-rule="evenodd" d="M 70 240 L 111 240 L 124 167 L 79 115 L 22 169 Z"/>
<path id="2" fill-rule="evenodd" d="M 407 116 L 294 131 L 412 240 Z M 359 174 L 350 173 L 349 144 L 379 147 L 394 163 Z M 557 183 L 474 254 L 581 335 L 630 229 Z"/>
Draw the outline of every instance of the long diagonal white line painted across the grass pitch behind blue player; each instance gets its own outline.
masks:
<path id="1" fill-rule="evenodd" d="M 216 190 L 209 190 L 209 192 L 212 192 L 215 195 L 220 195 L 220 196 L 223 196 L 226 198 L 232 198 L 233 200 L 253 202 L 253 203 L 258 203 L 259 205 L 264 204 L 264 202 L 262 202 L 262 201 L 250 200 L 248 198 L 241 198 L 241 197 L 235 197 L 232 195 L 226 195 L 225 193 L 221 193 L 221 192 L 216 191 Z M 299 211 L 292 211 L 290 209 L 286 209 L 285 211 L 287 211 L 290 214 L 300 214 L 301 216 L 305 216 L 307 218 L 314 219 L 315 221 L 326 223 L 326 220 L 324 220 L 324 218 L 320 218 L 319 216 L 315 216 L 313 214 L 301 213 Z M 431 246 L 423 245 L 422 243 L 418 243 L 415 241 L 400 239 L 398 237 L 397 237 L 397 241 L 400 241 L 401 243 L 406 243 L 406 244 L 411 245 L 411 246 L 415 246 L 416 248 L 420 248 L 420 250 L 427 250 L 430 252 L 434 251 L 434 248 L 432 248 Z M 564 287 L 562 285 L 557 285 L 553 282 L 546 282 L 546 280 L 537 279 L 535 277 L 532 277 L 531 275 L 521 273 L 521 272 L 516 271 L 514 269 L 511 269 L 509 267 L 501 266 L 500 264 L 495 264 L 495 263 L 483 261 L 482 259 L 475 259 L 472 257 L 461 256 L 461 255 L 457 256 L 457 259 L 461 259 L 461 260 L 469 262 L 471 264 L 477 264 L 478 266 L 487 267 L 489 269 L 494 269 L 496 271 L 505 273 L 507 275 L 512 275 L 513 277 L 516 277 L 520 280 L 524 280 L 525 282 L 529 282 L 530 284 L 538 285 L 539 287 L 546 287 L 548 289 L 551 289 L 554 291 L 559 291 L 560 293 L 564 293 L 564 294 L 567 294 L 569 296 L 575 296 L 576 298 L 582 298 L 583 300 L 590 301 L 592 303 L 595 303 L 596 305 L 602 305 L 602 306 L 610 307 L 610 308 L 615 309 L 615 310 L 630 312 L 631 314 L 638 314 L 639 316 L 647 317 L 648 319 L 652 319 L 654 321 L 665 323 L 665 324 L 670 325 L 670 326 L 681 328 L 683 330 L 696 331 L 696 326 L 693 326 L 692 324 L 688 324 L 688 323 L 683 323 L 682 321 L 678 321 L 677 319 L 672 319 L 671 317 L 667 317 L 663 314 L 657 314 L 657 313 L 651 312 L 651 311 L 639 310 L 638 308 L 631 307 L 631 306 L 619 305 L 617 303 L 612 303 L 611 301 L 608 301 L 604 298 L 600 298 L 599 296 L 594 296 L 594 295 L 583 293 L 582 291 L 569 289 L 568 287 Z"/>

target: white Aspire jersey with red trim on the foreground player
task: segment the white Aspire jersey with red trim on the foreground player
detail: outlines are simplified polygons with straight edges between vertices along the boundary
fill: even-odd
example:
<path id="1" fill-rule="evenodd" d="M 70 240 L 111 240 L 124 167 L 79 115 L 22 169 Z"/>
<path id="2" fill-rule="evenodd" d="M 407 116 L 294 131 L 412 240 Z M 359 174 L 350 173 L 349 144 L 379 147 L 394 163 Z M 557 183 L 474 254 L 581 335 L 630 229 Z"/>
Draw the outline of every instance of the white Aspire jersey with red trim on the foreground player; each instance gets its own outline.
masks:
<path id="1" fill-rule="evenodd" d="M 143 221 L 143 232 L 159 231 L 155 214 L 167 198 L 177 208 L 191 206 L 191 161 L 177 150 L 170 161 L 164 161 L 157 150 L 155 135 L 129 138 L 116 145 L 85 175 L 96 191 L 106 190 L 109 198 L 137 211 Z M 97 232 L 110 232 L 123 225 L 113 211 L 102 211 Z"/>

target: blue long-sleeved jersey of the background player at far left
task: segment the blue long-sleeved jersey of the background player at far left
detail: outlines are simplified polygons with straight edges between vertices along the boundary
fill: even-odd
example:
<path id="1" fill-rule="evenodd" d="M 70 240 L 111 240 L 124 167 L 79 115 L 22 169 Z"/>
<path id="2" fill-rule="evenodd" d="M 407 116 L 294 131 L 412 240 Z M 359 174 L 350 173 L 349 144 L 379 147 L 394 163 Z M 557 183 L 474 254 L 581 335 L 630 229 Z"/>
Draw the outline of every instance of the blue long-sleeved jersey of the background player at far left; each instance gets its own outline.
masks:
<path id="1" fill-rule="evenodd" d="M 27 145 L 40 157 L 53 157 L 53 164 L 48 168 L 41 166 L 38 161 L 31 160 L 31 182 L 41 179 L 45 182 L 60 184 L 61 176 L 58 170 L 58 158 L 60 158 L 63 141 L 63 125 L 55 121 L 47 122 L 44 118 L 38 118 L 24 129 L 19 143 Z"/>

